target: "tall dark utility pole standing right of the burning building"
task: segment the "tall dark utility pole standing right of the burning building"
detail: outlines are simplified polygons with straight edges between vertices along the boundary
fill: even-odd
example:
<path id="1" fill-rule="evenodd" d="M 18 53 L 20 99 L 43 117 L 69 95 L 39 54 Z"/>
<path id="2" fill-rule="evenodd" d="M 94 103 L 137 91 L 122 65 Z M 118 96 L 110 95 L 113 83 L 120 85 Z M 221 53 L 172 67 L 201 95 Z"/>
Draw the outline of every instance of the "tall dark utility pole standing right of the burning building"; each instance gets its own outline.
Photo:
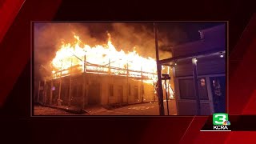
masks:
<path id="1" fill-rule="evenodd" d="M 154 23 L 154 40 L 155 40 L 155 52 L 156 52 L 156 61 L 157 61 L 157 70 L 158 70 L 158 103 L 159 103 L 159 114 L 164 115 L 165 110 L 163 107 L 163 94 L 162 94 L 162 77 L 161 70 L 162 66 L 159 64 L 159 54 L 158 54 L 158 34 L 157 28 Z"/>

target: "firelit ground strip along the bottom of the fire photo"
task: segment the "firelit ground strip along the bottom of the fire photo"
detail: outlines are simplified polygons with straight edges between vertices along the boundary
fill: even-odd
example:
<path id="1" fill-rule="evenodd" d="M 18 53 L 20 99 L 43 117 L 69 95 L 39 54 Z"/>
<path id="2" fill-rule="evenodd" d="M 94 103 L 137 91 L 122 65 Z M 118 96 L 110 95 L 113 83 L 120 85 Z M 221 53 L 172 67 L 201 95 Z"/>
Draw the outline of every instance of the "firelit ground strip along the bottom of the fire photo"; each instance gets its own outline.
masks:
<path id="1" fill-rule="evenodd" d="M 170 100 L 169 102 L 169 114 L 176 115 L 176 102 Z M 38 110 L 39 115 L 159 115 L 158 102 L 143 102 L 133 104 L 116 104 L 109 106 L 86 106 L 84 110 L 76 106 L 44 106 L 40 105 L 42 110 Z M 167 114 L 166 102 L 164 102 L 165 115 Z M 46 109 L 44 111 L 43 109 Z M 50 110 L 52 109 L 52 110 Z M 56 111 L 58 110 L 58 111 Z M 52 113 L 51 113 L 52 111 Z M 46 112 L 46 114 L 44 114 Z M 35 114 L 35 113 L 34 113 Z"/>

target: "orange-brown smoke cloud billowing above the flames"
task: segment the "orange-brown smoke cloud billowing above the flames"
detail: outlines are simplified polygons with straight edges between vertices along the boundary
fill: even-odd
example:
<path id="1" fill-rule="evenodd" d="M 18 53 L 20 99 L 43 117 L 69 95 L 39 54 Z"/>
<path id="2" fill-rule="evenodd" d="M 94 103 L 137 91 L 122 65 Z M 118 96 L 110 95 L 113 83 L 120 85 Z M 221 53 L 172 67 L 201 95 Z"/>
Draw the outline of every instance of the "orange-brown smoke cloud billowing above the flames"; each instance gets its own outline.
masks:
<path id="1" fill-rule="evenodd" d="M 143 57 L 155 58 L 153 23 L 148 22 L 35 22 L 34 23 L 34 64 L 44 74 L 49 74 L 50 62 L 62 42 L 74 42 L 74 34 L 89 46 L 106 44 L 107 33 L 117 50 L 136 50 Z M 163 32 L 158 32 L 159 57 L 170 58 L 172 42 Z M 43 67 L 42 67 L 42 66 Z M 36 68 L 38 70 L 38 67 Z"/>

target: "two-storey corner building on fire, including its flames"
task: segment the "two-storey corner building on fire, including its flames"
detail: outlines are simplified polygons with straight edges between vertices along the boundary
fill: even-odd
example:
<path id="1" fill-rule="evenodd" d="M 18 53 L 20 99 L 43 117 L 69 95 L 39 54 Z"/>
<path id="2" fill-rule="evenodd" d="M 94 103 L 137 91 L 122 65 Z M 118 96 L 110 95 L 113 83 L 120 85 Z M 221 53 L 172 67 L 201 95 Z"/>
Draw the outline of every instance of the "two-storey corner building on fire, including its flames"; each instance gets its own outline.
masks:
<path id="1" fill-rule="evenodd" d="M 106 45 L 86 45 L 77 35 L 74 43 L 63 43 L 51 61 L 51 76 L 39 84 L 37 101 L 82 108 L 158 101 L 154 58 L 143 58 L 135 47 L 118 51 L 108 38 Z M 162 68 L 170 74 L 169 66 Z M 173 96 L 169 81 L 166 87 Z"/>

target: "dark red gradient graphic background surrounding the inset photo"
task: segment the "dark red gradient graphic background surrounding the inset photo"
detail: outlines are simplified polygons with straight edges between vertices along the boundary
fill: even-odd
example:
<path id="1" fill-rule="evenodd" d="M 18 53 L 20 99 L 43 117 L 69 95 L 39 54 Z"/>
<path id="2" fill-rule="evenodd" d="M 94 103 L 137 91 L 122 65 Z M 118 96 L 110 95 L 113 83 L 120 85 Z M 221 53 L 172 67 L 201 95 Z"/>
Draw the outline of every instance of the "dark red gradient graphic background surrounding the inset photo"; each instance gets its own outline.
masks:
<path id="1" fill-rule="evenodd" d="M 82 4 L 0 0 L 2 138 L 10 143 L 256 142 L 256 132 L 200 132 L 208 117 L 30 118 L 30 22 L 51 20 L 227 20 L 229 114 L 256 114 L 256 14 L 251 3 L 213 0 Z"/>

